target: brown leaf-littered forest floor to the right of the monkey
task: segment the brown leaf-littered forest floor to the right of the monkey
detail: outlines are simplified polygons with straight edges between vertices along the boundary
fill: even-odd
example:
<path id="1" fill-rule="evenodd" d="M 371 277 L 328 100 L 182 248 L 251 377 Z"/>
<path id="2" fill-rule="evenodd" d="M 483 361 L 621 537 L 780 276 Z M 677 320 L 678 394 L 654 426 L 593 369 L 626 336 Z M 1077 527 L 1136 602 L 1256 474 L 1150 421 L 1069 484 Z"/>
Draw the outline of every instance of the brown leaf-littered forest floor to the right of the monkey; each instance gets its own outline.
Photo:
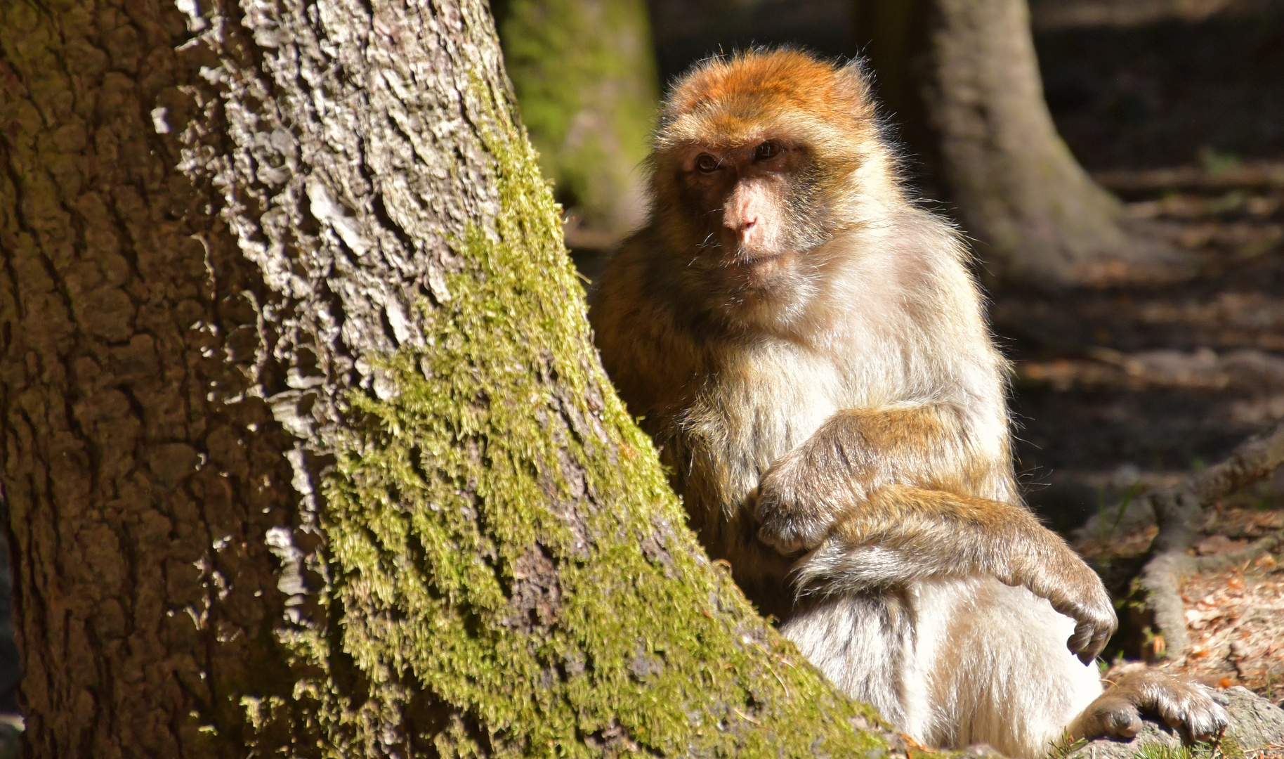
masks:
<path id="1" fill-rule="evenodd" d="M 1153 519 L 1131 496 L 1212 464 L 1284 416 L 1284 163 L 1109 171 L 1136 220 L 1203 262 L 1193 280 L 1055 295 L 998 292 L 991 316 L 1017 361 L 1013 410 L 1031 503 L 1127 597 Z M 1082 524 L 1086 520 L 1086 524 Z M 1284 529 L 1284 476 L 1219 502 L 1192 551 Z M 1284 704 L 1284 556 L 1186 578 L 1193 642 L 1171 667 Z M 1126 613 L 1121 616 L 1127 616 Z M 1163 641 L 1124 620 L 1113 651 Z"/>

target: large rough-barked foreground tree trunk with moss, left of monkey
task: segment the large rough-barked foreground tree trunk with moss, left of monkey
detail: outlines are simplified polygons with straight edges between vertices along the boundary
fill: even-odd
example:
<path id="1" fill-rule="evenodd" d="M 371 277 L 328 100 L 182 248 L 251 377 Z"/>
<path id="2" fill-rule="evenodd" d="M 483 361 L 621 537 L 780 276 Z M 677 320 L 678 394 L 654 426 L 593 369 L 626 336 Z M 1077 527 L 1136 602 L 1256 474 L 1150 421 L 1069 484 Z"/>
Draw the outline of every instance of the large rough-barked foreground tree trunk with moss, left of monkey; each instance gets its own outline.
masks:
<path id="1" fill-rule="evenodd" d="M 476 0 L 0 4 L 26 755 L 869 755 L 598 366 Z"/>

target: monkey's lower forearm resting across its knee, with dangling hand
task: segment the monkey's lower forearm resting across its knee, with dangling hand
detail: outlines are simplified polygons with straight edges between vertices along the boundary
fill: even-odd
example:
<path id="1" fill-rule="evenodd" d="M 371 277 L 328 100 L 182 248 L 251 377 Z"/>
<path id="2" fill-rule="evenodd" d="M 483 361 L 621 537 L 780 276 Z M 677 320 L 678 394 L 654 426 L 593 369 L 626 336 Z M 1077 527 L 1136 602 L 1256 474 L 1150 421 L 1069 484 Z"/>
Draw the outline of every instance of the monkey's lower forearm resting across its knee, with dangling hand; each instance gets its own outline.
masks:
<path id="1" fill-rule="evenodd" d="M 853 503 L 795 569 L 802 596 L 977 575 L 1023 586 L 1073 619 L 1067 646 L 1084 661 L 1115 632 L 1115 607 L 1097 573 L 1028 510 L 1002 501 L 882 488 Z"/>

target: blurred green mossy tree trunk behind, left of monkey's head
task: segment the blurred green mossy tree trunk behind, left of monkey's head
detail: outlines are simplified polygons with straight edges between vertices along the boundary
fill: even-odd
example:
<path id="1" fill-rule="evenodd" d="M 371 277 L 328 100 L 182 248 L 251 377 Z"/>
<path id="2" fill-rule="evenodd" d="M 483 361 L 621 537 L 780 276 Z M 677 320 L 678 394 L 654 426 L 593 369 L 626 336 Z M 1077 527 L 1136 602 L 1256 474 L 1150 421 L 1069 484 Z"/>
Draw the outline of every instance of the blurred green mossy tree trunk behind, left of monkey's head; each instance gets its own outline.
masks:
<path id="1" fill-rule="evenodd" d="M 571 245 L 605 249 L 642 222 L 659 74 L 642 0 L 492 3 L 521 119 L 568 213 Z"/>

